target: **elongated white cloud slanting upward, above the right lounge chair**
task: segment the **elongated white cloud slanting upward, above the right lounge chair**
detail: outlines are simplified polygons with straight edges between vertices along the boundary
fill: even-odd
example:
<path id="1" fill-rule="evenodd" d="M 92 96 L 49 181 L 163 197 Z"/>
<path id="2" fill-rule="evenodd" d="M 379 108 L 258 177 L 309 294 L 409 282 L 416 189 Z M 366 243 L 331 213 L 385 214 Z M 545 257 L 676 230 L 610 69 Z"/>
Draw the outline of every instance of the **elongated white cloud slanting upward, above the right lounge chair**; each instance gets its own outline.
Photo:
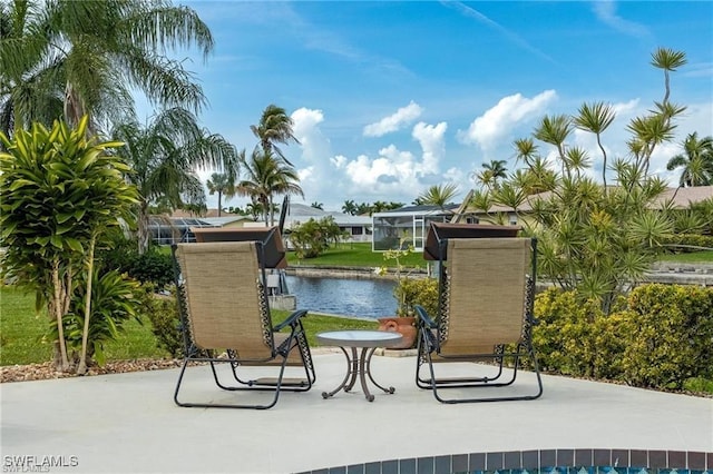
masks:
<path id="1" fill-rule="evenodd" d="M 544 113 L 556 98 L 554 90 L 546 90 L 531 99 L 521 93 L 504 97 L 476 118 L 468 130 L 458 130 L 458 139 L 466 145 L 478 145 L 486 154 L 492 151 L 507 141 L 516 126 Z"/>

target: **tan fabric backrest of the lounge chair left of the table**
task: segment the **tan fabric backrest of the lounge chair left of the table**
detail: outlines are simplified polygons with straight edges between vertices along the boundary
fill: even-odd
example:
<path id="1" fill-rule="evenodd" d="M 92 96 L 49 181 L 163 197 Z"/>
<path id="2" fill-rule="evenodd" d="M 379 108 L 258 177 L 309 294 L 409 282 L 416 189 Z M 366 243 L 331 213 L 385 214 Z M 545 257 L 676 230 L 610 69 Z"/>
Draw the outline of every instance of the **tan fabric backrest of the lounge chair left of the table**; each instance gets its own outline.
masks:
<path id="1" fill-rule="evenodd" d="M 186 317 L 194 344 L 272 356 L 274 339 L 255 241 L 178 244 Z"/>

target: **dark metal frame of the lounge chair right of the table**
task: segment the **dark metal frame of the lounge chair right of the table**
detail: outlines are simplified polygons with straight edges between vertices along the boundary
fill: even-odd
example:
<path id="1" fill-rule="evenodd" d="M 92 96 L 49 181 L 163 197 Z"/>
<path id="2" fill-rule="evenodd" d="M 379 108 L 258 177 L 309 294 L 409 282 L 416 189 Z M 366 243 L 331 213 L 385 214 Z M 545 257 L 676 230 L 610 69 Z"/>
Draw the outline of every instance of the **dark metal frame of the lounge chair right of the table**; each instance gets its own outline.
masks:
<path id="1" fill-rule="evenodd" d="M 527 245 L 527 250 L 529 251 L 529 258 L 527 260 L 529 264 L 522 264 L 522 270 L 527 271 L 525 275 L 525 285 L 522 288 L 522 306 L 521 306 L 521 327 L 519 328 L 520 334 L 517 337 L 517 340 L 476 340 L 479 339 L 480 335 L 476 335 L 473 337 L 473 346 L 459 346 L 455 350 L 447 350 L 448 347 L 448 317 L 450 312 L 449 297 L 450 297 L 450 288 L 449 285 L 457 284 L 456 282 L 449 280 L 451 276 L 448 274 L 448 269 L 446 266 L 446 255 L 450 258 L 458 258 L 457 250 L 453 248 L 457 240 L 466 240 L 466 239 L 455 239 L 455 238 L 440 238 L 438 241 L 438 253 L 439 253 L 439 315 L 428 315 L 427 312 L 421 306 L 416 307 L 417 312 L 417 324 L 419 328 L 418 335 L 418 357 L 417 357 L 417 371 L 416 371 L 416 384 L 420 388 L 431 389 L 433 392 L 433 396 L 441 403 L 472 403 L 472 402 L 502 402 L 502 401 L 518 401 L 518 399 L 535 399 L 538 398 L 543 394 L 543 382 L 539 373 L 539 367 L 537 364 L 537 357 L 535 354 L 535 349 L 533 347 L 533 326 L 537 324 L 537 320 L 534 317 L 534 297 L 535 297 L 535 283 L 537 278 L 537 239 L 536 238 L 525 238 L 525 237 L 494 237 L 494 238 L 476 238 L 468 239 L 479 240 L 480 244 L 471 244 L 471 245 L 489 245 L 489 241 L 505 241 L 505 240 L 520 240 L 522 245 L 525 245 L 524 240 L 529 240 L 529 245 Z M 507 244 L 506 244 L 507 245 Z M 450 247 L 450 248 L 449 248 Z M 487 251 L 484 249 L 482 251 Z M 529 267 L 529 268 L 527 268 Z M 497 278 L 497 275 L 488 275 L 488 278 Z M 450 283 L 449 283 L 450 282 Z M 475 293 L 475 292 L 473 292 Z M 462 305 L 462 302 L 460 302 Z M 476 312 L 477 308 L 469 309 L 471 312 Z M 517 316 L 517 315 L 515 315 Z M 486 337 L 486 336 L 484 336 Z M 459 343 L 462 344 L 462 340 Z M 491 350 L 486 350 L 484 348 L 491 347 Z M 512 385 L 516 382 L 518 376 L 518 371 L 521 367 L 522 358 L 529 358 L 531 363 L 531 367 L 535 372 L 535 376 L 537 378 L 537 388 L 535 393 L 524 394 L 524 395 L 504 395 L 504 396 L 487 396 L 484 395 L 484 392 L 480 391 L 479 396 L 469 397 L 447 397 L 443 395 L 441 389 L 446 388 L 490 388 L 490 387 L 506 387 Z M 462 376 L 456 378 L 446 378 L 438 377 L 436 366 L 440 363 L 449 363 L 449 362 L 479 362 L 479 363 L 490 363 L 497 367 L 497 373 L 495 375 L 489 376 Z M 505 368 L 507 367 L 507 363 L 511 363 L 510 375 L 504 377 L 506 374 Z M 423 366 L 428 365 L 428 372 L 426 375 L 422 374 Z M 501 379 L 502 377 L 502 379 Z M 489 392 L 492 394 L 492 392 Z M 480 396 L 484 395 L 484 396 Z"/>

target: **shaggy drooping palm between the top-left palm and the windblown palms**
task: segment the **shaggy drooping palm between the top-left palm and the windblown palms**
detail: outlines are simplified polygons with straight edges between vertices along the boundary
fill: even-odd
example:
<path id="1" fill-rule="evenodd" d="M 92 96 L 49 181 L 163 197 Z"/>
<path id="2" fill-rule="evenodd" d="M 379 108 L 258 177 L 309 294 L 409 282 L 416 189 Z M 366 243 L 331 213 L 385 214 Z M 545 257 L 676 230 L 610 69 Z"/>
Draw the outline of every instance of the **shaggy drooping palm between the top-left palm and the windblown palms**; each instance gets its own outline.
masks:
<path id="1" fill-rule="evenodd" d="M 139 190 L 138 249 L 148 248 L 148 207 L 163 199 L 173 209 L 204 208 L 205 190 L 197 167 L 237 169 L 240 154 L 219 135 L 198 127 L 188 110 L 167 109 L 141 127 L 136 121 L 120 124 L 111 132 L 125 145 L 119 154 L 131 165 L 128 175 Z M 229 176 L 229 175 L 228 175 Z"/>

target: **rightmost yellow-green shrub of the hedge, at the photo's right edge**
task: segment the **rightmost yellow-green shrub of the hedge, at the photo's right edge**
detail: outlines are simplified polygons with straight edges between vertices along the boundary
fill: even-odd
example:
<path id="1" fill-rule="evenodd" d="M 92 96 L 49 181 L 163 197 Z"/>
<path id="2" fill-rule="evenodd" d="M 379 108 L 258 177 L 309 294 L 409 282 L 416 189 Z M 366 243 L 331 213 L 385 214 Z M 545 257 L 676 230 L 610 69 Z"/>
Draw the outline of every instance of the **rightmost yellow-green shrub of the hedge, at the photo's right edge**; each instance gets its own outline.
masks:
<path id="1" fill-rule="evenodd" d="M 619 334 L 628 384 L 681 389 L 713 377 L 713 288 L 645 285 L 628 302 Z"/>

